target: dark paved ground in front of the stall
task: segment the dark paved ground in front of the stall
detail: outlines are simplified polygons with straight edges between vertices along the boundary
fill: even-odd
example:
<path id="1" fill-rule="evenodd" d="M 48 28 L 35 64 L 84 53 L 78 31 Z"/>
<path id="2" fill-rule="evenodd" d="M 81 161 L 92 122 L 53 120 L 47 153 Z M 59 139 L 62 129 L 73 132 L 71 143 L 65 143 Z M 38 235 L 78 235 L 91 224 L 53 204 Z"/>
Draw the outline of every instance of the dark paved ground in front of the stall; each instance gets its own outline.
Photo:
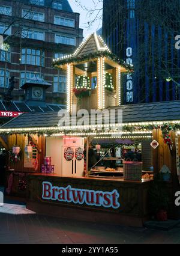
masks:
<path id="1" fill-rule="evenodd" d="M 117 227 L 39 216 L 0 213 L 0 243 L 126 244 L 180 243 L 180 225 L 170 231 Z"/>

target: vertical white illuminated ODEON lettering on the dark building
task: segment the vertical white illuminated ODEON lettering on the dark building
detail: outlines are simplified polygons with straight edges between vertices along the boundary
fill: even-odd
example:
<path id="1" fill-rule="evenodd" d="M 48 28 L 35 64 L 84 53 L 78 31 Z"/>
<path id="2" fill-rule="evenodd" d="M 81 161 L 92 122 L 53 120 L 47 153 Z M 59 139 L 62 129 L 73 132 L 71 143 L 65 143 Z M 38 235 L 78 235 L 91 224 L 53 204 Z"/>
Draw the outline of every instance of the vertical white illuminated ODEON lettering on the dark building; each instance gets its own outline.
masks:
<path id="1" fill-rule="evenodd" d="M 133 49 L 131 47 L 128 47 L 126 49 L 126 62 L 129 65 L 133 64 Z M 127 88 L 127 102 L 133 102 L 133 81 L 132 81 L 132 74 L 127 75 L 127 82 L 126 82 L 126 88 Z"/>

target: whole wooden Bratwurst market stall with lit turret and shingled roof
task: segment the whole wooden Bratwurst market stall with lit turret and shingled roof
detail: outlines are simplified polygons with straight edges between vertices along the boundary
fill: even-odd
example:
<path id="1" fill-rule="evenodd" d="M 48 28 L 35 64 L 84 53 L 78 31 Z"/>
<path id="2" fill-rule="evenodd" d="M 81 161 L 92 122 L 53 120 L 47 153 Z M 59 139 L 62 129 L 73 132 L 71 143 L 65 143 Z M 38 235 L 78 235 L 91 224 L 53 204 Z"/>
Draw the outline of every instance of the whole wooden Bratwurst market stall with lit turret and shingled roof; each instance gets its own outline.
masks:
<path id="1" fill-rule="evenodd" d="M 133 72 L 132 67 L 96 34 L 74 55 L 55 59 L 53 66 L 67 69 L 67 111 L 23 114 L 0 129 L 10 154 L 7 194 L 26 194 L 27 208 L 40 214 L 142 226 L 151 212 L 148 191 L 153 183 L 142 178 L 142 171 L 155 175 L 163 168 L 171 174 L 163 183 L 170 197 L 169 218 L 179 218 L 174 202 L 180 175 L 180 102 L 122 106 L 121 73 Z M 90 142 L 108 139 L 113 146 L 119 138 L 142 145 L 141 169 L 131 169 L 128 178 L 125 165 L 118 177 L 92 177 Z"/>

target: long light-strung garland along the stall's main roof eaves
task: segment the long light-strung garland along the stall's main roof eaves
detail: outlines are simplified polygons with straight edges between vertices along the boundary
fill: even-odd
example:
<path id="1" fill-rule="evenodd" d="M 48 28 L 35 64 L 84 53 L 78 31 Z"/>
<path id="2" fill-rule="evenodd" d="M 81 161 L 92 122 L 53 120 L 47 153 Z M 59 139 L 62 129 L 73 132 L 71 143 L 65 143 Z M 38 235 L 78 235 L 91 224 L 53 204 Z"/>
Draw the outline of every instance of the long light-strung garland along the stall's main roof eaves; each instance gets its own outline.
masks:
<path id="1" fill-rule="evenodd" d="M 154 122 L 155 123 L 155 122 Z M 158 129 L 161 130 L 163 133 L 163 138 L 164 138 L 164 143 L 172 146 L 172 139 L 170 137 L 170 132 L 171 131 L 175 131 L 175 130 L 180 130 L 180 123 L 175 123 L 175 121 L 173 121 L 173 123 L 161 123 L 158 124 L 158 122 L 156 122 L 157 124 L 154 123 L 137 123 L 137 124 L 124 124 L 122 126 L 122 137 L 121 138 L 137 138 L 137 136 L 135 135 L 137 133 L 137 135 L 141 135 L 139 136 L 142 138 L 149 138 L 149 136 L 145 136 L 146 133 L 152 133 L 152 130 L 154 129 Z M 87 136 L 89 135 L 89 133 L 91 133 L 91 135 L 94 136 L 98 136 L 98 135 L 103 135 L 103 138 L 106 138 L 106 136 L 108 135 L 112 135 L 112 133 L 114 133 L 113 130 L 109 130 L 107 131 L 107 129 L 105 129 L 103 126 L 100 129 L 94 129 L 93 130 L 94 134 L 92 134 L 92 131 L 90 129 L 87 128 L 87 130 L 84 129 L 84 127 L 80 126 L 78 127 L 78 134 L 80 133 L 80 136 Z M 11 129 L 5 129 L 0 131 L 1 135 L 17 135 L 17 134 L 22 134 L 22 135 L 38 135 L 38 136 L 52 136 L 52 135 L 58 135 L 58 136 L 65 136 L 65 135 L 73 135 L 75 133 L 72 133 L 71 129 L 67 129 L 67 127 L 58 127 L 58 126 L 53 126 L 53 127 L 45 127 L 45 128 L 29 128 L 28 129 L 16 129 L 16 130 L 11 130 Z M 128 135 L 128 136 L 124 136 Z M 76 133 L 77 135 L 77 133 Z M 151 136 L 152 137 L 152 136 Z"/>

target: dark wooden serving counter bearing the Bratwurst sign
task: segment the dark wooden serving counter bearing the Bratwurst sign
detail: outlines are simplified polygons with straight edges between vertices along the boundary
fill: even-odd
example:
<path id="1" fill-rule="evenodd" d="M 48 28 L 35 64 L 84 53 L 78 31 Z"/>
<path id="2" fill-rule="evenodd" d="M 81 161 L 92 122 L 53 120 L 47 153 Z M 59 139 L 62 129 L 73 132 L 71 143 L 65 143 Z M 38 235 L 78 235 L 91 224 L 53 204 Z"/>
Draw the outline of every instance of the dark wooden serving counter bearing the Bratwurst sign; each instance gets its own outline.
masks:
<path id="1" fill-rule="evenodd" d="M 151 180 L 28 175 L 27 208 L 41 215 L 142 227 Z"/>

